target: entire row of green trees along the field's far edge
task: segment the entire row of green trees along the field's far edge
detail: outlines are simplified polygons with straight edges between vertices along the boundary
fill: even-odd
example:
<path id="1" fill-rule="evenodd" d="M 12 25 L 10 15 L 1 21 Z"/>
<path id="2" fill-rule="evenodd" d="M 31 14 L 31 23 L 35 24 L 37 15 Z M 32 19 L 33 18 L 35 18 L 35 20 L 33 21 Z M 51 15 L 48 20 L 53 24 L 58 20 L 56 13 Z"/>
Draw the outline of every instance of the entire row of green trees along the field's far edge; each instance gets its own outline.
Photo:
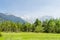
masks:
<path id="1" fill-rule="evenodd" d="M 36 19 L 34 23 L 19 23 L 12 21 L 0 22 L 1 32 L 41 32 L 60 33 L 60 19 L 50 19 L 41 21 Z"/>

